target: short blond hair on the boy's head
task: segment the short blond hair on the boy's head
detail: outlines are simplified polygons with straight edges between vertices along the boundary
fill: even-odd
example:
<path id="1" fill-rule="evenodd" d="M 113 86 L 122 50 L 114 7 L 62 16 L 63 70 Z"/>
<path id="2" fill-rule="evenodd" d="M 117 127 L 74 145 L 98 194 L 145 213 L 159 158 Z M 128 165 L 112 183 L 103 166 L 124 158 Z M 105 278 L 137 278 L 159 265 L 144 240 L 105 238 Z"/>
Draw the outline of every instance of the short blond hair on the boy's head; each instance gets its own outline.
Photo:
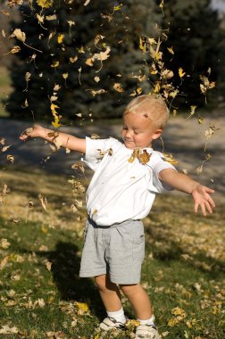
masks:
<path id="1" fill-rule="evenodd" d="M 164 128 L 169 119 L 169 109 L 162 95 L 139 95 L 125 108 L 124 114 L 142 113 L 152 120 L 157 128 Z"/>

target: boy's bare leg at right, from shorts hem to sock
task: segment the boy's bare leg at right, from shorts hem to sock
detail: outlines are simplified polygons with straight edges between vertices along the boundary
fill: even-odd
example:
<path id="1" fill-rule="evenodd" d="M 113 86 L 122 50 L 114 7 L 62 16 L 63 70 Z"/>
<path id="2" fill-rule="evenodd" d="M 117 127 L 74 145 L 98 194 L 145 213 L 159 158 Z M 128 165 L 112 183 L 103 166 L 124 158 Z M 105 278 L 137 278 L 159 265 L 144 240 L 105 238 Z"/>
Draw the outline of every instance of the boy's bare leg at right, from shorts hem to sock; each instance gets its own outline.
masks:
<path id="1" fill-rule="evenodd" d="M 138 319 L 146 320 L 152 317 L 151 302 L 141 285 L 121 285 L 121 291 L 128 297 Z"/>

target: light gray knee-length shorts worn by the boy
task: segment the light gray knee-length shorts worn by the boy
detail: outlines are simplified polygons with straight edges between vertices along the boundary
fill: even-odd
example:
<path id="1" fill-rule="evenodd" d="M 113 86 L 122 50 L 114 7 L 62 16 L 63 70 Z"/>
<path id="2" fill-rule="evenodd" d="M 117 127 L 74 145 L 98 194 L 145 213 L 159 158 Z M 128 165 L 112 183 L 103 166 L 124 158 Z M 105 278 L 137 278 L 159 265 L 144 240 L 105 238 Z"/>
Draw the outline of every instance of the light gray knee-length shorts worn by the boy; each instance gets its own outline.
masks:
<path id="1" fill-rule="evenodd" d="M 79 277 L 108 274 L 112 283 L 138 284 L 144 255 L 142 221 L 127 220 L 110 227 L 99 227 L 87 219 Z"/>

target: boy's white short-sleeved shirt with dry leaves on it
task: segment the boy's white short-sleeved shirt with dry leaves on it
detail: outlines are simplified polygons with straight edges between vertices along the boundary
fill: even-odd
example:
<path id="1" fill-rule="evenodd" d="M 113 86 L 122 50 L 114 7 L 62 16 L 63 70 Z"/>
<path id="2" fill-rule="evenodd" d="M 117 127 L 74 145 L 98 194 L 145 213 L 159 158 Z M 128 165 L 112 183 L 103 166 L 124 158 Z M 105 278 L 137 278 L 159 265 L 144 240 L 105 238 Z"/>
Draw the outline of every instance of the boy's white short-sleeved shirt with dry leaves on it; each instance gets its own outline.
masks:
<path id="1" fill-rule="evenodd" d="M 99 226 L 127 219 L 143 219 L 154 203 L 156 193 L 171 190 L 162 185 L 162 170 L 176 170 L 162 153 L 146 148 L 150 160 L 130 162 L 133 150 L 117 139 L 86 138 L 85 162 L 95 171 L 87 189 L 87 213 Z"/>

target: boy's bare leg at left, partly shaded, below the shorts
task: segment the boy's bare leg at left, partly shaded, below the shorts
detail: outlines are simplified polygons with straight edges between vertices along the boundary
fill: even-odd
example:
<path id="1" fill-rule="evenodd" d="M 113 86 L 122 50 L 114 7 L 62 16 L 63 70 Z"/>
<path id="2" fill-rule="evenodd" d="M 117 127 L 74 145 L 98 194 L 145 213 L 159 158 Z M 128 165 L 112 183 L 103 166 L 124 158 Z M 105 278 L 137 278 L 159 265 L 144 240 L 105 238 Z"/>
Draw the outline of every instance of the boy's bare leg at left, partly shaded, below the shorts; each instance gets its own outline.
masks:
<path id="1" fill-rule="evenodd" d="M 109 312 L 121 310 L 121 293 L 118 286 L 113 284 L 106 274 L 95 279 L 105 310 Z"/>

